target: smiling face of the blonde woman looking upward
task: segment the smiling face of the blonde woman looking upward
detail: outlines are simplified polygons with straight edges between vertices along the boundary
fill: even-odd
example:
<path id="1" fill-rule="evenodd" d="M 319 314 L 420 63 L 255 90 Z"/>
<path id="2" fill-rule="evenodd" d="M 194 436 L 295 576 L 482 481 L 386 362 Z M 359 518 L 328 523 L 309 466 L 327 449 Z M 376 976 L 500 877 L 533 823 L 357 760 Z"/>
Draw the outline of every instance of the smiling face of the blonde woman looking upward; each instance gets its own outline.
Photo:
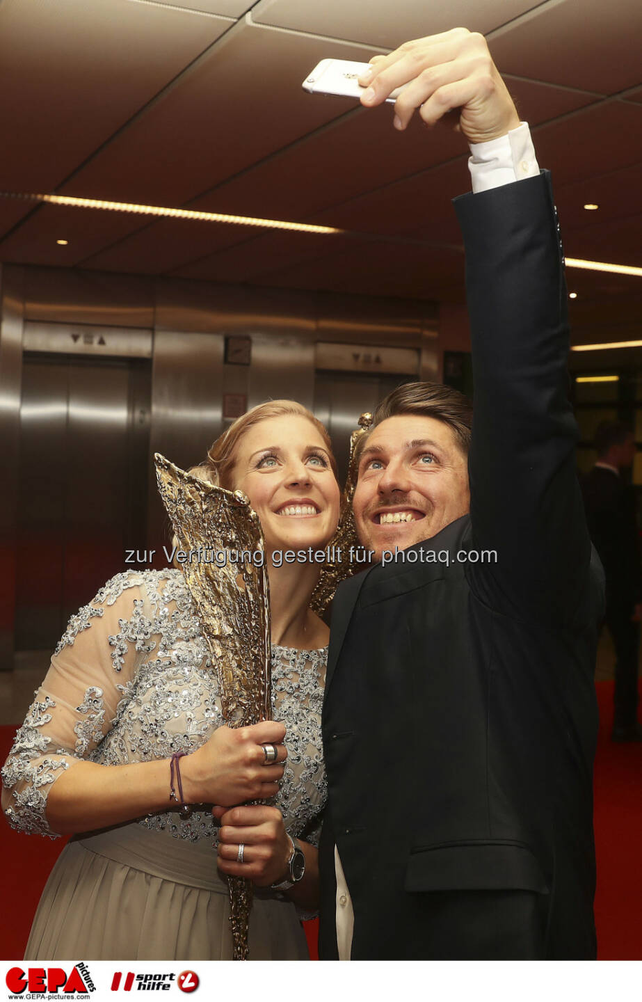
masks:
<path id="1" fill-rule="evenodd" d="M 339 484 L 324 440 L 298 414 L 266 418 L 240 439 L 232 472 L 260 519 L 265 548 L 323 548 L 339 521 Z"/>

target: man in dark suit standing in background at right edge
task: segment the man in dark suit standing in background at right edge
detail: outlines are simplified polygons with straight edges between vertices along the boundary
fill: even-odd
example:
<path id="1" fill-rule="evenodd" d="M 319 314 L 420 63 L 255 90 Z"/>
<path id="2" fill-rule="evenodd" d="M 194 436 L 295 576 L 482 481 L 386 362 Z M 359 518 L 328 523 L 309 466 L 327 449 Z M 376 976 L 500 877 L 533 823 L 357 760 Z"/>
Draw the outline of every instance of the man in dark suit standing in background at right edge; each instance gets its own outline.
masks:
<path id="1" fill-rule="evenodd" d="M 597 462 L 582 483 L 591 539 L 606 576 L 604 620 L 615 645 L 614 741 L 642 740 L 637 720 L 642 568 L 635 496 L 621 471 L 635 457 L 635 437 L 620 421 L 605 421 L 595 433 Z"/>

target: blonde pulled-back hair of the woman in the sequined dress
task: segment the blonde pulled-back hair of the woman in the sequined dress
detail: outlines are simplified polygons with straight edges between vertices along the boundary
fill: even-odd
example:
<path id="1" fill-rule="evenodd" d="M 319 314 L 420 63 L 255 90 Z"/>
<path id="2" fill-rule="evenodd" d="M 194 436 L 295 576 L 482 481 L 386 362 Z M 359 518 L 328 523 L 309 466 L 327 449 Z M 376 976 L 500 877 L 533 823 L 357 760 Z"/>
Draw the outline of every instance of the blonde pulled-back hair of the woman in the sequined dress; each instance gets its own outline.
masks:
<path id="1" fill-rule="evenodd" d="M 243 435 L 261 421 L 267 421 L 269 418 L 282 418 L 287 414 L 295 414 L 301 418 L 307 418 L 314 426 L 328 449 L 333 472 L 338 478 L 337 461 L 333 453 L 333 444 L 330 435 L 311 411 L 308 411 L 306 407 L 298 404 L 295 400 L 267 400 L 264 404 L 257 404 L 256 407 L 252 407 L 245 414 L 241 414 L 211 445 L 207 453 L 207 458 L 202 463 L 199 463 L 198 466 L 192 466 L 188 472 L 194 477 L 200 477 L 201 480 L 205 480 L 207 483 L 216 484 L 218 487 L 225 487 L 227 490 L 233 490 L 231 475 L 234 463 L 236 462 L 238 444 Z"/>

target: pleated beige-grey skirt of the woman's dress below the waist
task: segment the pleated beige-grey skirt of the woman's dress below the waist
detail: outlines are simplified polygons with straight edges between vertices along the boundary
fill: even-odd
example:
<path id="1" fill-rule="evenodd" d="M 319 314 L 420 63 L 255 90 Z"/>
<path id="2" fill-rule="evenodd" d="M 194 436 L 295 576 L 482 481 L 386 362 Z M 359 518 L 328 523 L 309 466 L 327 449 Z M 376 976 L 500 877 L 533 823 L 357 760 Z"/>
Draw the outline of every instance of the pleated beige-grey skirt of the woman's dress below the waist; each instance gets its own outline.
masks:
<path id="1" fill-rule="evenodd" d="M 261 895 L 262 892 L 258 892 Z M 255 896 L 249 960 L 308 960 L 289 901 Z M 138 824 L 72 839 L 42 893 L 25 960 L 231 960 L 216 851 Z"/>

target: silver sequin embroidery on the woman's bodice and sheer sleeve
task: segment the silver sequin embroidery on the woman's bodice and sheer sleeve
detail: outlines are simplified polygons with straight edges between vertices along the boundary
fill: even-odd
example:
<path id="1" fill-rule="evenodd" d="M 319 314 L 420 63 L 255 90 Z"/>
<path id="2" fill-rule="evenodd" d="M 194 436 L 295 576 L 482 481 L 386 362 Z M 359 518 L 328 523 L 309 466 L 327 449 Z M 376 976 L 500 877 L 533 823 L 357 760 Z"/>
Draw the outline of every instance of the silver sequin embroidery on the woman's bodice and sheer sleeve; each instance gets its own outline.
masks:
<path id="1" fill-rule="evenodd" d="M 119 619 L 118 633 L 105 637 L 105 672 L 111 673 L 105 685 L 111 684 L 118 697 L 112 702 L 117 702 L 113 719 L 105 718 L 103 688 L 90 686 L 76 707 L 75 743 L 70 739 L 68 750 L 56 749 L 62 756 L 59 760 L 43 759 L 50 738 L 40 728 L 51 720 L 48 710 L 55 702 L 46 697 L 32 704 L 2 774 L 5 788 L 22 785 L 20 793 L 13 792 L 6 812 L 13 827 L 55 837 L 45 817 L 47 792 L 75 758 L 106 766 L 167 759 L 172 752 L 199 747 L 223 722 L 216 672 L 179 570 L 117 574 L 93 602 L 71 617 L 56 652 L 72 645 L 80 632 L 100 628 L 94 621 L 104 614 L 104 607 L 136 586 L 143 597 L 134 598 L 129 618 Z M 129 678 L 121 677 L 128 655 L 131 664 L 132 651 L 136 670 Z M 327 649 L 272 646 L 273 716 L 287 728 L 288 747 L 283 782 L 273 803 L 291 835 L 302 834 L 314 843 L 327 797 L 320 735 L 326 659 Z M 173 838 L 216 842 L 217 827 L 208 809 L 194 811 L 186 820 L 174 812 L 152 814 L 139 824 Z"/>

